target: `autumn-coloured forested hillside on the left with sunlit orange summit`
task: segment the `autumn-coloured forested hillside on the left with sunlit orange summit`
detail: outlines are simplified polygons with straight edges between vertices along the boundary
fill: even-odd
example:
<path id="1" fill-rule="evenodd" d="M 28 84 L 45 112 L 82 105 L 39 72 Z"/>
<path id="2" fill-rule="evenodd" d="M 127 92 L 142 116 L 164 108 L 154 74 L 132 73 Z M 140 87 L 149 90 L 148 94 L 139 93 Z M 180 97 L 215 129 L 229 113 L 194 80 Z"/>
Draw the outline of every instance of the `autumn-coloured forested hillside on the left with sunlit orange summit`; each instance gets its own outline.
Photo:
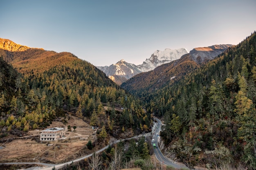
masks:
<path id="1" fill-rule="evenodd" d="M 92 64 L 67 52 L 24 48 L 5 39 L 1 42 L 2 137 L 45 128 L 54 120 L 65 124 L 68 112 L 92 126 L 106 127 L 115 137 L 121 132 L 150 130 L 151 115 L 140 102 Z M 123 109 L 116 111 L 116 107 Z"/>

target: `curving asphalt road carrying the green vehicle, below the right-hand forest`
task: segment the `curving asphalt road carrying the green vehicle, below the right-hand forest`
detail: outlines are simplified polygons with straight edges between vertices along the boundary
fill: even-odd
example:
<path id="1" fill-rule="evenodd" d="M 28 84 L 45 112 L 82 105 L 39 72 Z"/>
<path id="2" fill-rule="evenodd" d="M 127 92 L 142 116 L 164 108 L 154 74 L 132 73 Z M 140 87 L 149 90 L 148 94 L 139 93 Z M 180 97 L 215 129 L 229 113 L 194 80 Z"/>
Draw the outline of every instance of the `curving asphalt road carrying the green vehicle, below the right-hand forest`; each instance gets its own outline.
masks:
<path id="1" fill-rule="evenodd" d="M 174 161 L 171 161 L 169 159 L 166 159 L 166 157 L 164 157 L 164 155 L 162 154 L 161 150 L 158 147 L 158 142 L 157 142 L 158 139 L 159 139 L 158 135 L 159 135 L 159 132 L 161 130 L 162 123 L 159 119 L 157 119 L 157 118 L 154 118 L 154 119 L 157 121 L 157 126 L 156 126 L 156 129 L 155 129 L 155 134 L 152 138 L 152 139 L 155 140 L 155 142 L 154 143 L 151 142 L 151 143 L 152 143 L 152 145 L 155 144 L 157 146 L 156 149 L 154 149 L 155 157 L 158 159 L 159 162 L 161 162 L 165 165 L 172 166 L 174 168 L 179 168 L 179 169 L 187 168 L 185 165 L 183 165 L 183 166 L 177 165 L 177 164 L 174 163 Z"/>

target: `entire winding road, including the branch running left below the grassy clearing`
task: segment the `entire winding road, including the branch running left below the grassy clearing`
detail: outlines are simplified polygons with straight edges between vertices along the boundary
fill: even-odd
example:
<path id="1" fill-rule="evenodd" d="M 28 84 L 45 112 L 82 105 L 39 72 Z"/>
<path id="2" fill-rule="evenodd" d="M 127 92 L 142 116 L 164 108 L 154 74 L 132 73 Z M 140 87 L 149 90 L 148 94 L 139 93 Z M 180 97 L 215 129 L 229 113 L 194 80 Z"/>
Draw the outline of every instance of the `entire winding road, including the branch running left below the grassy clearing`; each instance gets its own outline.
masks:
<path id="1" fill-rule="evenodd" d="M 157 119 L 157 118 L 154 118 L 154 119 L 157 121 L 157 126 L 156 126 L 156 129 L 155 129 L 155 134 L 153 136 L 153 139 L 155 139 L 155 143 L 154 144 L 156 144 L 156 146 L 157 146 L 156 149 L 154 149 L 155 157 L 158 159 L 158 161 L 160 161 L 161 163 L 163 163 L 165 165 L 172 166 L 174 168 L 179 168 L 179 169 L 186 168 L 185 165 L 180 165 L 180 164 L 178 165 L 174 161 L 170 161 L 169 159 L 166 159 L 166 157 L 164 157 L 164 155 L 162 154 L 161 150 L 158 147 L 158 142 L 157 142 L 158 138 L 159 138 L 157 134 L 159 134 L 159 132 L 161 130 L 162 123 L 161 123 L 161 121 L 159 119 Z M 144 134 L 144 135 L 138 135 L 136 137 L 131 137 L 131 138 L 128 138 L 128 139 L 117 140 L 117 141 L 114 141 L 113 144 L 117 144 L 120 141 L 129 140 L 129 139 L 137 138 L 137 137 L 141 137 L 141 136 L 148 136 L 148 135 L 150 135 L 150 133 Z M 153 143 L 152 143 L 152 145 L 153 145 Z M 108 148 L 108 146 L 98 150 L 96 153 L 102 152 L 103 150 L 106 150 L 107 148 Z M 35 170 L 52 170 L 52 168 L 54 168 L 54 167 L 56 169 L 59 169 L 59 168 L 61 168 L 63 166 L 67 166 L 67 165 L 69 165 L 71 163 L 74 163 L 74 162 L 77 162 L 77 161 L 81 161 L 81 160 L 83 160 L 85 158 L 89 158 L 91 156 L 92 156 L 92 154 L 86 155 L 86 156 L 81 157 L 79 159 L 75 159 L 73 161 L 69 161 L 69 162 L 61 163 L 61 164 L 49 164 L 49 163 L 38 163 L 38 162 L 9 162 L 9 163 L 0 163 L 0 165 L 35 164 L 35 165 L 46 166 L 46 167 L 37 167 L 37 168 L 35 168 Z"/>

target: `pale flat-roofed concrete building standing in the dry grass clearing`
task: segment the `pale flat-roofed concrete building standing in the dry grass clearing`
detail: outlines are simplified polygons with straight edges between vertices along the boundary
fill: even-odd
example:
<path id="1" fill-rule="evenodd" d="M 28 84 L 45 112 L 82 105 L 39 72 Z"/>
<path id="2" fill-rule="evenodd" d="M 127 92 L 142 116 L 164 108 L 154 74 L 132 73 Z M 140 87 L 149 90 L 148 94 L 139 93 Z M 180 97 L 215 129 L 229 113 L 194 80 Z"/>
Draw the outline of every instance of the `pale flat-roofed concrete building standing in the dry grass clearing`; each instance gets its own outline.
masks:
<path id="1" fill-rule="evenodd" d="M 65 135 L 65 128 L 49 128 L 41 131 L 40 141 L 57 141 Z"/>

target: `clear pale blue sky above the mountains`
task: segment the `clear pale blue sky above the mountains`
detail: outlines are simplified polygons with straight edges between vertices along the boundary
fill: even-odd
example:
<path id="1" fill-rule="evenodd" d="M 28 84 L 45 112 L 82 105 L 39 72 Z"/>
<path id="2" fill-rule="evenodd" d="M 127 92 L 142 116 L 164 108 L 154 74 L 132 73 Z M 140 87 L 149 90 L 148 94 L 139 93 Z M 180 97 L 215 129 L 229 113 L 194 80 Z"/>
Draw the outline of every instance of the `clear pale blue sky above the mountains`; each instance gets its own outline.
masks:
<path id="1" fill-rule="evenodd" d="M 5 0 L 0 23 L 17 44 L 138 65 L 156 50 L 239 44 L 256 31 L 256 0 Z"/>

